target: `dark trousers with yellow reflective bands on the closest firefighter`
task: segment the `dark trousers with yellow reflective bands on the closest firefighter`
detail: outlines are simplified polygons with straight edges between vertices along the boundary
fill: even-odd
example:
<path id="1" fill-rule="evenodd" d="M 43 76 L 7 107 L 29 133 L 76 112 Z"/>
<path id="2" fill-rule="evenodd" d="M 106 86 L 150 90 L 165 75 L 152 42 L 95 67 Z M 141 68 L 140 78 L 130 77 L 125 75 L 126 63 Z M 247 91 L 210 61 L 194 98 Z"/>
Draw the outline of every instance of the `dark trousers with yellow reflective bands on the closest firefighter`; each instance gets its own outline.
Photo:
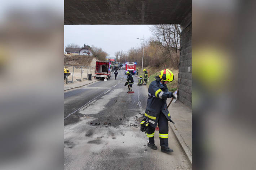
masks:
<path id="1" fill-rule="evenodd" d="M 160 139 L 160 146 L 161 147 L 168 147 L 168 120 L 165 118 L 165 115 L 161 112 L 158 119 L 158 127 L 159 127 L 159 139 Z M 149 127 L 147 128 L 147 134 L 153 134 L 155 132 L 155 128 Z M 167 138 L 166 138 L 167 135 Z M 153 137 L 147 137 L 148 142 L 155 143 Z M 162 136 L 162 137 L 161 137 Z M 165 138 L 164 138 L 165 137 Z"/>

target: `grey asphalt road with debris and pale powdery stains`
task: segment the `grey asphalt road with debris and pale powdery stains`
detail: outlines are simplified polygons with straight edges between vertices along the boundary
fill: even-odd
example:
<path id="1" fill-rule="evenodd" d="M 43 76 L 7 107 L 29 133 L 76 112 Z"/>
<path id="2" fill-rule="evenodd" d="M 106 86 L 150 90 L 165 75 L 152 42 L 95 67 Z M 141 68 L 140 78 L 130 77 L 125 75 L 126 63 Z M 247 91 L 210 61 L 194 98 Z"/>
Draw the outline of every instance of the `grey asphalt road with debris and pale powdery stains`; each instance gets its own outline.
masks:
<path id="1" fill-rule="evenodd" d="M 146 146 L 140 132 L 145 112 L 147 87 L 137 86 L 127 94 L 126 75 L 119 70 L 107 81 L 97 81 L 64 93 L 64 168 L 65 170 L 187 170 L 191 165 L 174 134 L 169 130 L 173 153 Z"/>

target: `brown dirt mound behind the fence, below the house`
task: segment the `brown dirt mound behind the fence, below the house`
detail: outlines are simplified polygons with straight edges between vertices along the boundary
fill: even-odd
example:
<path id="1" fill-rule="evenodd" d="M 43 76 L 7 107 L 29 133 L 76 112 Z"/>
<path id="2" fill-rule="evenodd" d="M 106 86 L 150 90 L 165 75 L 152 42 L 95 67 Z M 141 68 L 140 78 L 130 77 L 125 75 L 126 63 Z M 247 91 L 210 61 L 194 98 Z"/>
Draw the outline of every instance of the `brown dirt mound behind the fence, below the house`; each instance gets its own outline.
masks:
<path id="1" fill-rule="evenodd" d="M 91 66 L 94 60 L 96 61 L 92 56 L 64 55 L 64 65 Z"/>

